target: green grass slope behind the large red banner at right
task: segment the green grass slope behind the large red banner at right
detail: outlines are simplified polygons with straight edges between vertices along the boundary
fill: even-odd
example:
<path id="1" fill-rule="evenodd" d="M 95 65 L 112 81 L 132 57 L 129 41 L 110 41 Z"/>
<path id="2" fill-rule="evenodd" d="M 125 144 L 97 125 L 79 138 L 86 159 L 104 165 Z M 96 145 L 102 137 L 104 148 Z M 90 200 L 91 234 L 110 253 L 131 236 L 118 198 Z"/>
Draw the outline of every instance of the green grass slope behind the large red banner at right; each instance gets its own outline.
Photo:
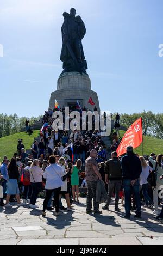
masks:
<path id="1" fill-rule="evenodd" d="M 121 137 L 123 137 L 126 131 L 120 131 Z M 142 155 L 142 145 L 134 149 L 134 152 Z M 155 154 L 163 153 L 163 139 L 155 139 L 149 136 L 143 136 L 143 155 L 149 155 L 152 152 Z"/>

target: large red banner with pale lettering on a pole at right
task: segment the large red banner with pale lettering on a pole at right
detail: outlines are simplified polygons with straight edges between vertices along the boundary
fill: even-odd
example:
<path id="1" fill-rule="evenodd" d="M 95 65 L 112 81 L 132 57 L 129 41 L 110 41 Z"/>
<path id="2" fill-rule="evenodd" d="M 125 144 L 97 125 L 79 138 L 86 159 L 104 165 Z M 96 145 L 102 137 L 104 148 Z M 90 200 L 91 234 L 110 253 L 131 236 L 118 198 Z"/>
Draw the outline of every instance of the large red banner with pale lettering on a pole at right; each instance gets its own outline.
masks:
<path id="1" fill-rule="evenodd" d="M 118 156 L 126 153 L 126 148 L 131 146 L 137 148 L 142 143 L 142 118 L 137 119 L 124 133 L 122 141 L 117 148 Z"/>

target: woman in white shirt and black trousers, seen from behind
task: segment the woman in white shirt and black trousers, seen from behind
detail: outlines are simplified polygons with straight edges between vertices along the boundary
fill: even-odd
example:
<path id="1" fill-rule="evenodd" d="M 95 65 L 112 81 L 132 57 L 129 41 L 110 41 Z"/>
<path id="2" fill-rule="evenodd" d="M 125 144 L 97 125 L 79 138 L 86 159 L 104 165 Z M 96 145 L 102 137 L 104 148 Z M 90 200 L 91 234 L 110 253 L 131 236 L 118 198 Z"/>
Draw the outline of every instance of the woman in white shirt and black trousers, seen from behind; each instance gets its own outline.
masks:
<path id="1" fill-rule="evenodd" d="M 52 196 L 52 193 L 54 192 L 54 200 L 55 200 L 55 216 L 59 215 L 59 195 L 61 186 L 63 184 L 62 182 L 62 176 L 64 175 L 64 171 L 62 168 L 56 164 L 56 158 L 55 156 L 49 157 L 49 166 L 45 169 L 45 172 L 43 173 L 43 178 L 46 179 L 46 185 L 45 185 L 45 191 L 46 196 L 45 200 L 43 201 L 43 210 L 42 210 L 42 216 L 46 216 L 46 208 L 49 202 L 49 199 Z"/>

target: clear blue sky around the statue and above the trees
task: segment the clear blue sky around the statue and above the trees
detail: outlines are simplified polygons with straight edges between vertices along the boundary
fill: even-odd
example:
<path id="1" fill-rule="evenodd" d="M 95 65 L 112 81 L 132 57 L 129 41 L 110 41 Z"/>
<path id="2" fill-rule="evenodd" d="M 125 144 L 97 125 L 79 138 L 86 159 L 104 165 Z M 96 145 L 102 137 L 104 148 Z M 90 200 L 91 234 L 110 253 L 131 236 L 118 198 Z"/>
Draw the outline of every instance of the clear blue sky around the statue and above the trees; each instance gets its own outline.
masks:
<path id="1" fill-rule="evenodd" d="M 162 0 L 0 0 L 0 113 L 37 116 L 62 72 L 62 13 L 76 8 L 101 109 L 162 112 Z"/>

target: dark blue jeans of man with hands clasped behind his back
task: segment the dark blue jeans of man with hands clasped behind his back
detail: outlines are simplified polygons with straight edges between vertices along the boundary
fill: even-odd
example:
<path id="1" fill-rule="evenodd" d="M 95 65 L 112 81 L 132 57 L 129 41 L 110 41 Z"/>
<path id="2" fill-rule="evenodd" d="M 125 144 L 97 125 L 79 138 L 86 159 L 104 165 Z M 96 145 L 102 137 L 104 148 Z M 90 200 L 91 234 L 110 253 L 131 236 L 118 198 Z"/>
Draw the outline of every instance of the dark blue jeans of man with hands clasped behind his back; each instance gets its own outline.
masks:
<path id="1" fill-rule="evenodd" d="M 131 185 L 131 179 L 124 179 L 123 180 L 124 186 L 124 198 L 125 198 L 125 212 L 126 216 L 130 217 L 130 206 L 131 206 L 131 192 L 134 193 L 135 196 L 135 203 L 136 203 L 136 215 L 141 216 L 141 200 L 140 200 L 140 192 L 139 187 L 140 183 L 137 180 L 134 186 Z"/>

